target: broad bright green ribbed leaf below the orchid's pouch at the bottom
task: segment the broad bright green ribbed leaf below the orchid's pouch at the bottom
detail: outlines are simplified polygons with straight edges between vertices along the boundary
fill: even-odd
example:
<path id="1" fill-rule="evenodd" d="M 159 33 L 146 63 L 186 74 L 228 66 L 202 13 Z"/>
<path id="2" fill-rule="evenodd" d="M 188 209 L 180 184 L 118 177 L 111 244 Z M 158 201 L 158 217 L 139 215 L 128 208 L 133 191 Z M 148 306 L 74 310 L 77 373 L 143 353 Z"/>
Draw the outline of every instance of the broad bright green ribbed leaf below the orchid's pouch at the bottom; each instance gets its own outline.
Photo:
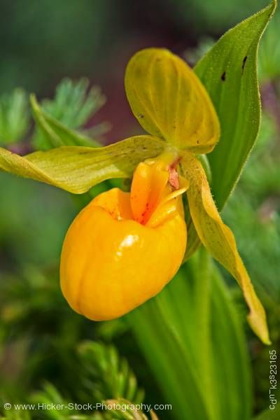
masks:
<path id="1" fill-rule="evenodd" d="M 249 419 L 251 381 L 241 321 L 203 249 L 129 320 L 172 404 L 172 419 Z"/>

